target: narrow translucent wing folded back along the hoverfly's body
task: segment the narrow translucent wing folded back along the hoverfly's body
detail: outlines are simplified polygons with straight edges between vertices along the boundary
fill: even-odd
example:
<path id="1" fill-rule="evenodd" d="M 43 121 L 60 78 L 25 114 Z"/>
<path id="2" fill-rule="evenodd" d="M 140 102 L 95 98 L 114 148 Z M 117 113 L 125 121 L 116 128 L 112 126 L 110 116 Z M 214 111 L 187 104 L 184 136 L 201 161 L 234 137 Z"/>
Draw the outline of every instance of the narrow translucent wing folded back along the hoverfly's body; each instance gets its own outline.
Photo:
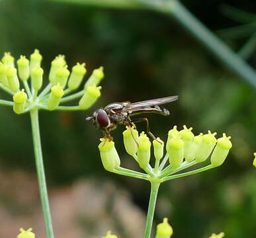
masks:
<path id="1" fill-rule="evenodd" d="M 137 108 L 147 108 L 147 107 L 151 107 L 151 106 L 156 106 L 156 105 L 161 105 L 161 104 L 165 104 L 168 102 L 173 102 L 175 100 L 177 100 L 179 98 L 179 96 L 170 96 L 170 97 L 165 97 L 165 98 L 161 98 L 161 99 L 151 99 L 151 100 L 144 100 L 142 102 L 134 102 L 131 103 L 128 106 L 128 110 L 135 110 Z"/>

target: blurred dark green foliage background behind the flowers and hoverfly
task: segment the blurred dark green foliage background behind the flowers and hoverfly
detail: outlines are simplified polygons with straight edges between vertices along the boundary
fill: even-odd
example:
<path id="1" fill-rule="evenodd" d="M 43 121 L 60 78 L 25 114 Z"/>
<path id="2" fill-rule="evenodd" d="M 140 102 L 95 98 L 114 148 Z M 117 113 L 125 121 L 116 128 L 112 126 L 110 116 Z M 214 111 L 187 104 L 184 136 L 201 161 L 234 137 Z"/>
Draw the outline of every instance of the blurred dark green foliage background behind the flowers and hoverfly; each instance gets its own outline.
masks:
<path id="1" fill-rule="evenodd" d="M 222 3 L 251 13 L 256 10 L 253 1 L 183 3 L 212 31 L 237 26 L 237 22 L 222 15 Z M 170 128 L 177 125 L 181 130 L 185 124 L 194 128 L 194 134 L 211 130 L 221 137 L 226 132 L 232 136 L 233 147 L 222 167 L 163 184 L 155 224 L 168 217 L 176 238 L 207 237 L 220 231 L 226 237 L 256 237 L 256 177 L 252 166 L 256 141 L 255 90 L 213 58 L 177 22 L 146 10 L 1 0 L 0 32 L 2 55 L 11 52 L 16 59 L 21 54 L 28 57 L 37 48 L 43 55 L 45 75 L 50 61 L 58 54 L 65 55 L 69 69 L 77 61 L 86 62 L 87 75 L 101 65 L 105 69 L 102 97 L 90 110 L 40 112 L 50 190 L 70 186 L 81 178 L 109 181 L 126 190 L 134 206 L 146 213 L 149 184 L 103 169 L 97 150 L 101 132 L 85 122 L 85 117 L 110 102 L 179 95 L 177 102 L 166 105 L 170 116 L 148 116 L 153 134 L 166 139 Z M 237 49 L 245 40 L 228 39 L 227 43 Z M 256 54 L 252 54 L 249 63 L 253 67 L 255 60 Z M 2 91 L 0 97 L 8 99 Z M 138 129 L 146 127 L 138 124 Z M 123 130 L 119 126 L 112 132 L 121 163 L 137 169 L 124 151 Z M 0 141 L 0 171 L 23 171 L 35 176 L 29 115 L 17 116 L 12 108 L 1 106 Z M 101 182 L 97 186 L 100 188 Z M 12 190 L 12 186 L 8 189 Z M 4 207 L 8 205 L 5 198 L 5 190 L 1 190 L 0 202 Z M 120 238 L 128 237 L 120 230 Z"/>

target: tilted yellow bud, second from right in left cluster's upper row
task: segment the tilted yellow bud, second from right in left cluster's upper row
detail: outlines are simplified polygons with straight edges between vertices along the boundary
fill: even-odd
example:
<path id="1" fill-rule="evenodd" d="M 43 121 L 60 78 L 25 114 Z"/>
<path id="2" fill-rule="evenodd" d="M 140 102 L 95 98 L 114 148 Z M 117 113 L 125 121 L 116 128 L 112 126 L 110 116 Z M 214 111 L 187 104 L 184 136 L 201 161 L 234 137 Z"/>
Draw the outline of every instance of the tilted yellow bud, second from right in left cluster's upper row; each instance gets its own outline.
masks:
<path id="1" fill-rule="evenodd" d="M 85 63 L 77 63 L 72 67 L 72 72 L 68 81 L 68 88 L 71 90 L 77 89 L 83 80 L 83 76 L 86 73 Z"/>

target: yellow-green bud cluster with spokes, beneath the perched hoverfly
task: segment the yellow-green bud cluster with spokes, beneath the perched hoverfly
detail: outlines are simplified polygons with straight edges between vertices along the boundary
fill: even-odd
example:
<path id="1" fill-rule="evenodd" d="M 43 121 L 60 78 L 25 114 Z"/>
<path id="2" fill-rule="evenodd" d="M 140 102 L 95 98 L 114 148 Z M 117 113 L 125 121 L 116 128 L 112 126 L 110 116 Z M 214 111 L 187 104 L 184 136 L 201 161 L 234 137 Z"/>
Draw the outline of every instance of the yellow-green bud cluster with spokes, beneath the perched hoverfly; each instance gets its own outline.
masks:
<path id="1" fill-rule="evenodd" d="M 139 133 L 134 126 L 132 126 L 132 128 L 126 127 L 126 130 L 123 132 L 126 152 L 134 157 L 140 168 L 148 175 L 120 167 L 120 158 L 114 147 L 114 141 L 105 141 L 105 139 L 101 139 L 99 151 L 101 153 L 103 167 L 107 171 L 148 180 L 151 180 L 152 177 L 159 178 L 160 182 L 163 182 L 165 180 L 199 173 L 206 169 L 222 165 L 232 147 L 232 143 L 230 141 L 230 136 L 227 137 L 225 133 L 222 138 L 216 139 L 215 136 L 216 132 L 212 133 L 210 130 L 208 130 L 207 134 L 200 133 L 198 136 L 194 136 L 192 128 L 183 126 L 183 130 L 178 131 L 177 126 L 173 126 L 168 132 L 165 146 L 160 138 L 153 140 L 155 167 L 152 169 L 149 164 L 152 143 L 148 136 L 144 132 L 139 136 Z M 164 147 L 167 153 L 163 158 Z M 206 161 L 208 157 L 210 157 L 210 165 L 206 167 L 196 169 L 187 174 L 184 173 L 169 176 L 191 167 L 196 163 L 202 163 Z M 159 164 L 162 158 L 163 161 Z M 168 160 L 169 165 L 165 167 L 165 163 Z"/>

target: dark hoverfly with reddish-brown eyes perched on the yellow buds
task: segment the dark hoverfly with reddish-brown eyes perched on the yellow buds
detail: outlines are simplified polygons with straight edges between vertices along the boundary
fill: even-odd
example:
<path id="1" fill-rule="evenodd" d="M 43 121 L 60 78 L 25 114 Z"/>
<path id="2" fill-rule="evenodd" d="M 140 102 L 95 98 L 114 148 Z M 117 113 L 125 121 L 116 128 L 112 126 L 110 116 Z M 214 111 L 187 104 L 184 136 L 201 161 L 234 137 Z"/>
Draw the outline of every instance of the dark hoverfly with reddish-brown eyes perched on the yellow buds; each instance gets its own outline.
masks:
<path id="1" fill-rule="evenodd" d="M 93 116 L 86 118 L 87 121 L 93 121 L 94 126 L 101 130 L 104 134 L 104 138 L 111 141 L 112 137 L 110 132 L 114 130 L 117 124 L 123 124 L 128 126 L 131 130 L 131 126 L 135 126 L 134 122 L 143 122 L 147 124 L 147 133 L 151 138 L 156 139 L 155 136 L 149 130 L 148 118 L 136 118 L 131 120 L 130 116 L 136 114 L 142 114 L 144 112 L 152 112 L 161 114 L 163 116 L 168 116 L 169 111 L 160 104 L 165 104 L 168 102 L 173 102 L 178 99 L 178 96 L 164 97 L 161 99 L 151 99 L 144 100 L 142 102 L 113 102 L 105 106 L 105 108 L 100 108 L 95 110 Z M 132 130 L 131 130 L 132 132 Z M 133 134 L 132 137 L 134 138 Z M 136 141 L 136 139 L 134 138 Z M 138 142 L 136 141 L 138 144 Z"/>

